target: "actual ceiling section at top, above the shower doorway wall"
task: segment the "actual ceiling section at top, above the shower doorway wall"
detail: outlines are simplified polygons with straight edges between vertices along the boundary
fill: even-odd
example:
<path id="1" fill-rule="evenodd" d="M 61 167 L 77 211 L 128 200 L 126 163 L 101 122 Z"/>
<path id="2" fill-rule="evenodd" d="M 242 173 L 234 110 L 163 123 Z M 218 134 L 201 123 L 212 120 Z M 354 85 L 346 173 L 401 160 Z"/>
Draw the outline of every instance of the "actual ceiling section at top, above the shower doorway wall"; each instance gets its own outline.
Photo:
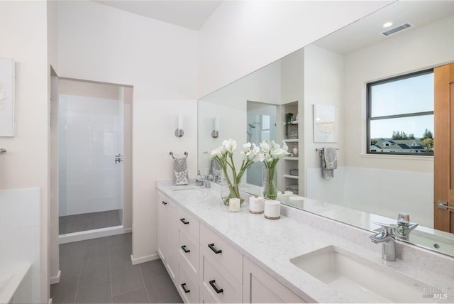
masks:
<path id="1" fill-rule="evenodd" d="M 199 31 L 221 1 L 197 0 L 94 0 L 140 16 Z"/>

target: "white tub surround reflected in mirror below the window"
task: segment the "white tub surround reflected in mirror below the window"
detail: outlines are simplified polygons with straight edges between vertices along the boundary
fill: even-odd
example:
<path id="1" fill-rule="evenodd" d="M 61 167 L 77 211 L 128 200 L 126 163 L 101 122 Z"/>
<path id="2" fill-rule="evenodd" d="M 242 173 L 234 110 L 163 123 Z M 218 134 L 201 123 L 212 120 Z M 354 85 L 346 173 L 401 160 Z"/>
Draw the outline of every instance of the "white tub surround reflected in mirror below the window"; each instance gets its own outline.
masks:
<path id="1" fill-rule="evenodd" d="M 376 168 L 340 167 L 325 180 L 320 168 L 306 170 L 306 197 L 355 210 L 433 227 L 433 174 Z"/>

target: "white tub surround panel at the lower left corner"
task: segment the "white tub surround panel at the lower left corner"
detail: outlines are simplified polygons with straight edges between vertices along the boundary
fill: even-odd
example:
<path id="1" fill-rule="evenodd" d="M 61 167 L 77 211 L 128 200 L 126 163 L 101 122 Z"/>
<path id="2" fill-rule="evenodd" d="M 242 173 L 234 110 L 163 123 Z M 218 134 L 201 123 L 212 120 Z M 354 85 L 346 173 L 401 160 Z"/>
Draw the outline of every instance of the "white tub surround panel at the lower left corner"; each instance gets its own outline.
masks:
<path id="1" fill-rule="evenodd" d="M 28 273 L 31 282 L 24 281 L 21 294 L 27 293 L 29 288 L 31 303 L 39 303 L 40 189 L 0 190 L 0 246 L 0 273 L 11 273 L 12 268 L 23 265 L 30 268 L 31 265 L 30 271 L 23 272 L 23 276 Z M 14 276 L 18 278 L 16 274 Z M 17 298 L 21 296 L 17 295 Z"/>

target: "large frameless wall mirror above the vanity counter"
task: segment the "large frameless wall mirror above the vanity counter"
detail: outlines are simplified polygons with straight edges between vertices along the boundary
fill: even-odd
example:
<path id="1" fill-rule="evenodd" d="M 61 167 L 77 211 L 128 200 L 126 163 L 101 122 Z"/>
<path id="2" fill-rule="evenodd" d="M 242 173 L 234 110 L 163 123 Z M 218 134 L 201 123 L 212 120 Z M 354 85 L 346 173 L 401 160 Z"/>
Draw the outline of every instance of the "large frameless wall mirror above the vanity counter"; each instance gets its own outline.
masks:
<path id="1" fill-rule="evenodd" d="M 386 22 L 393 24 L 384 28 Z M 453 1 L 397 1 L 200 99 L 199 170 L 209 170 L 204 151 L 223 139 L 286 141 L 292 154 L 279 161 L 277 187 L 305 197 L 299 207 L 370 230 L 378 228 L 373 220 L 391 224 L 406 212 L 419 223 L 410 242 L 454 256 L 453 234 L 433 229 L 433 156 L 367 153 L 366 115 L 367 83 L 454 63 L 453 28 Z M 382 34 L 389 30 L 395 33 Z M 325 108 L 336 136 L 323 142 L 314 134 L 314 111 Z M 292 136 L 284 127 L 289 113 Z M 395 131 L 414 133 L 419 142 L 423 134 L 411 124 Z M 329 179 L 319 153 L 326 147 L 337 151 Z"/>

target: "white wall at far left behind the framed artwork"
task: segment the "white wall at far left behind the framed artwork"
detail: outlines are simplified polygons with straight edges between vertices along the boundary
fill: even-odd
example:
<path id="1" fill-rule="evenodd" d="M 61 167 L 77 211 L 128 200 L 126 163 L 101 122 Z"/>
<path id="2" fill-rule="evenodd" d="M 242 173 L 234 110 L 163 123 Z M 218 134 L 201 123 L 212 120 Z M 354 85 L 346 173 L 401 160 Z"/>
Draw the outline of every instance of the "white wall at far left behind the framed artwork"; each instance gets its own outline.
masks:
<path id="1" fill-rule="evenodd" d="M 45 1 L 0 1 L 0 56 L 16 60 L 16 136 L 0 138 L 0 189 L 40 188 L 40 302 L 48 302 L 48 40 Z M 30 202 L 32 203 L 32 202 Z"/>

